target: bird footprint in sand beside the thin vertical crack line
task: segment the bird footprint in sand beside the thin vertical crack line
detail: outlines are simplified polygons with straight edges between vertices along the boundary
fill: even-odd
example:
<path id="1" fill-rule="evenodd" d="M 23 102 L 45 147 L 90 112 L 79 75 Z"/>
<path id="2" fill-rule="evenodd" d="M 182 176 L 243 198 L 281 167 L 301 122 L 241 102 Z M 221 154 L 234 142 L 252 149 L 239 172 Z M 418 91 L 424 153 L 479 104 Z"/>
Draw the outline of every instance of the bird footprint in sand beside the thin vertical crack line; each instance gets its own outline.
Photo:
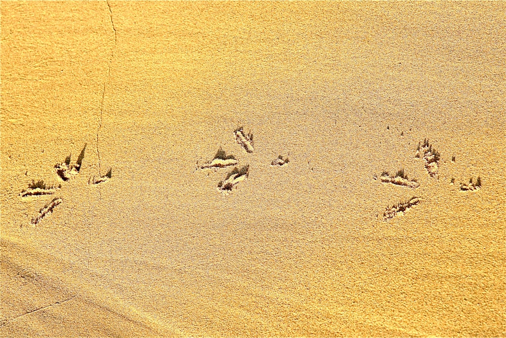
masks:
<path id="1" fill-rule="evenodd" d="M 65 162 L 58 163 L 55 165 L 54 169 L 56 172 L 56 175 L 58 176 L 58 179 L 62 181 L 64 184 L 71 180 L 73 177 L 79 174 L 82 166 L 82 160 L 85 158 L 85 149 L 86 144 L 82 148 L 81 153 L 77 157 L 77 160 L 75 161 L 75 164 L 70 164 L 71 155 L 67 156 L 65 159 Z M 100 184 L 108 181 L 112 177 L 112 168 L 109 169 L 109 171 L 104 175 L 96 178 L 96 176 L 90 177 L 88 180 L 88 184 Z M 22 199 L 27 198 L 40 198 L 41 196 L 46 195 L 56 195 L 58 191 L 62 189 L 62 184 L 56 185 L 47 185 L 44 180 L 38 180 L 28 184 L 27 189 L 23 190 L 19 196 Z M 63 198 L 61 197 L 55 197 L 53 198 L 49 203 L 47 203 L 43 208 L 39 210 L 36 216 L 34 216 L 31 219 L 30 224 L 32 226 L 36 226 L 38 223 L 40 223 L 41 220 L 46 218 L 47 216 L 51 215 L 54 211 L 54 209 L 63 203 Z"/>

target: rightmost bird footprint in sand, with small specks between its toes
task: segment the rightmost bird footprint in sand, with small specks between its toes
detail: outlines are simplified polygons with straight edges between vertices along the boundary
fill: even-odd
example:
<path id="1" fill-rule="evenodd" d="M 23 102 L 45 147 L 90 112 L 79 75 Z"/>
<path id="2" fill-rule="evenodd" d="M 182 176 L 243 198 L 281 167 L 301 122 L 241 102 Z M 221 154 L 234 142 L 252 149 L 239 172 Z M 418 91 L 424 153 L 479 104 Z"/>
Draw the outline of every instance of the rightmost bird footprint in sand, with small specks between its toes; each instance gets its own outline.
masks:
<path id="1" fill-rule="evenodd" d="M 440 154 L 436 151 L 432 144 L 429 143 L 428 139 L 425 139 L 424 142 L 418 142 L 418 147 L 416 148 L 415 158 L 423 159 L 425 161 L 425 169 L 429 173 L 430 177 L 437 177 L 438 169 L 440 165 Z M 451 159 L 452 163 L 455 163 L 455 157 L 453 156 Z M 378 179 L 377 175 L 373 176 L 374 179 Z M 409 179 L 408 175 L 404 173 L 404 169 L 397 171 L 395 175 L 389 174 L 388 171 L 384 171 L 379 177 L 382 183 L 386 184 L 394 184 L 403 187 L 409 187 L 415 189 L 420 186 L 416 179 Z M 452 178 L 450 184 L 454 184 L 455 178 Z M 476 181 L 473 181 L 473 178 L 469 180 L 469 183 L 460 183 L 460 191 L 477 191 L 481 188 L 481 178 L 478 176 Z M 421 202 L 420 197 L 413 196 L 409 200 L 401 201 L 392 206 L 388 206 L 383 212 L 383 219 L 388 221 L 391 218 L 394 218 L 399 213 L 404 213 L 411 207 L 418 205 Z"/>

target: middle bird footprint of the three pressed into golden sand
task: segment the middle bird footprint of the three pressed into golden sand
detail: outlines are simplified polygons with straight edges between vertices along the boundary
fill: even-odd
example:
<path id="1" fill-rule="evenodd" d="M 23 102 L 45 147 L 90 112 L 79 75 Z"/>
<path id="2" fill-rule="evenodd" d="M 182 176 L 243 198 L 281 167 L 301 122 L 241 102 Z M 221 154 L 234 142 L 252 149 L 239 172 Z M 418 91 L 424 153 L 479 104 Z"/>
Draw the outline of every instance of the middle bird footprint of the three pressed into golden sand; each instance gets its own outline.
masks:
<path id="1" fill-rule="evenodd" d="M 254 142 L 253 142 L 253 134 L 251 132 L 245 133 L 243 127 L 240 127 L 234 130 L 235 141 L 244 149 L 244 151 L 248 154 L 251 154 L 255 151 Z M 271 166 L 284 166 L 288 164 L 289 160 L 287 157 L 279 156 L 277 159 L 271 162 Z M 234 167 L 232 171 L 230 171 L 225 179 L 221 180 L 218 183 L 218 190 L 223 192 L 225 195 L 229 195 L 232 192 L 234 186 L 238 183 L 242 182 L 248 177 L 249 174 L 249 165 L 245 165 L 241 168 L 237 167 L 239 161 L 236 160 L 235 156 L 227 155 L 226 152 L 220 147 L 215 157 L 202 165 L 199 165 L 198 162 L 195 165 L 195 169 L 197 170 L 205 170 L 205 169 L 221 169 L 227 167 Z M 236 187 L 237 189 L 237 187 Z"/>

